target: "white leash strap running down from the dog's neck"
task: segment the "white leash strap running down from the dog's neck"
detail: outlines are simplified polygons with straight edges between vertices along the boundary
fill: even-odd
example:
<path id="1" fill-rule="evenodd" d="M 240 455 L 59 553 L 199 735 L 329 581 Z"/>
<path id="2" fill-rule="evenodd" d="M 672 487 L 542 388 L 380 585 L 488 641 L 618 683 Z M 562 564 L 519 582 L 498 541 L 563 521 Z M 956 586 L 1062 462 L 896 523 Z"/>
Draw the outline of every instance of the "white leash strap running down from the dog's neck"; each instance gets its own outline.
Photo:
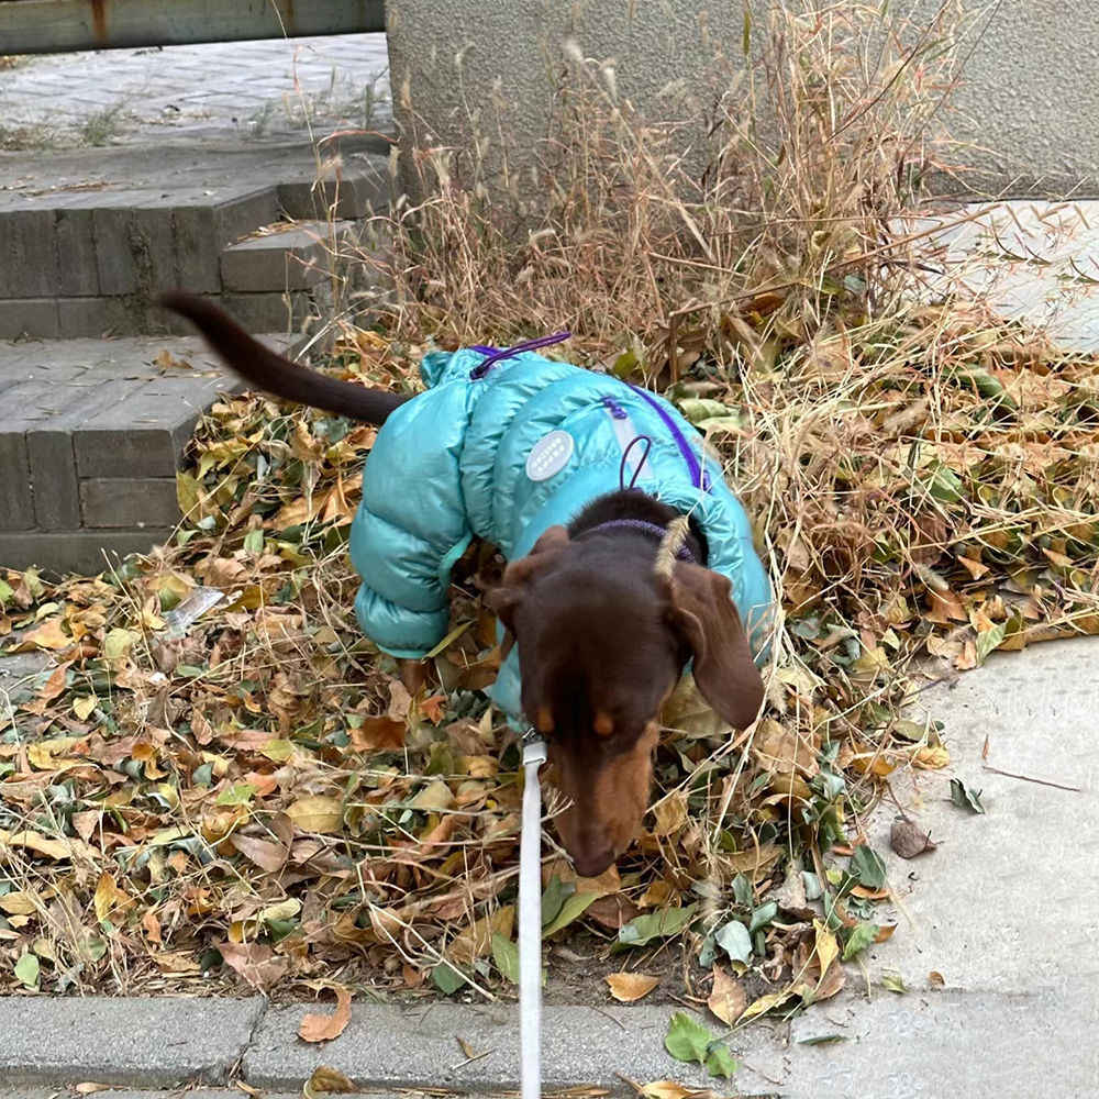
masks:
<path id="1" fill-rule="evenodd" d="M 545 741 L 523 734 L 523 821 L 519 837 L 519 1033 L 522 1099 L 542 1095 L 542 790 Z"/>

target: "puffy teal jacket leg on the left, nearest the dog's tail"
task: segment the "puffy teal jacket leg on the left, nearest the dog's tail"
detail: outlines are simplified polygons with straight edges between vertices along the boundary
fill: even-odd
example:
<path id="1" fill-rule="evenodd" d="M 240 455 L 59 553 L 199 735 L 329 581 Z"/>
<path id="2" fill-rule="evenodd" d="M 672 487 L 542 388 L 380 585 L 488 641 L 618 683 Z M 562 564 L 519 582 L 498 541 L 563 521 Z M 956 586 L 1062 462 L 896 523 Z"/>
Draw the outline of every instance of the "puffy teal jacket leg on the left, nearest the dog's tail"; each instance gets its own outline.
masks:
<path id="1" fill-rule="evenodd" d="M 351 559 L 363 578 L 355 612 L 384 652 L 421 657 L 443 639 L 447 586 L 470 541 L 458 462 L 467 387 L 443 385 L 398 409 L 363 473 Z"/>

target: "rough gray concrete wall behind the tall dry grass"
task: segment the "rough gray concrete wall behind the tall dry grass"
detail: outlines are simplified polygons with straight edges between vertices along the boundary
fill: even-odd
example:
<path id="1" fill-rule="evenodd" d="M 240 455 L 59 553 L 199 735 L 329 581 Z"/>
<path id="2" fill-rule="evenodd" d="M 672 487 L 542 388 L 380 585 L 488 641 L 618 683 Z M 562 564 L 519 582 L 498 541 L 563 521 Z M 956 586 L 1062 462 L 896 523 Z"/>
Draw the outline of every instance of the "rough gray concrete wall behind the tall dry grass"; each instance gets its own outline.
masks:
<path id="1" fill-rule="evenodd" d="M 797 0 L 790 0 L 791 4 Z M 823 0 L 822 0 L 823 4 Z M 657 111 L 669 81 L 699 80 L 713 43 L 741 56 L 741 0 L 387 0 L 398 122 L 462 141 L 470 110 L 493 95 L 520 148 L 545 136 L 563 43 L 613 58 L 623 95 Z M 755 26 L 768 4 L 752 0 Z M 937 0 L 891 10 L 926 21 Z M 952 132 L 968 143 L 976 190 L 1099 193 L 1099 2 L 967 4 L 968 55 L 952 99 Z M 460 58 L 460 60 L 459 60 Z M 421 141 L 425 140 L 421 136 Z"/>

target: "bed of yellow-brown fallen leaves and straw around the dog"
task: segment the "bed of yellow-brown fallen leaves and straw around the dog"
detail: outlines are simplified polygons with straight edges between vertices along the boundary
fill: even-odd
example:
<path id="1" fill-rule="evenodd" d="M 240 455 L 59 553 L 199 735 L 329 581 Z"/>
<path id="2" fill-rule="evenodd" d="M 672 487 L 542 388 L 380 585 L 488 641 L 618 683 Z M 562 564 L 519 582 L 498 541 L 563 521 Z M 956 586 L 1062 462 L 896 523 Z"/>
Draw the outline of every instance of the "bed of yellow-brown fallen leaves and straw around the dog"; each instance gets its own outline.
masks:
<path id="1" fill-rule="evenodd" d="M 577 880 L 547 832 L 544 873 L 546 937 L 575 947 L 551 983 L 596 955 L 630 970 L 621 999 L 662 972 L 726 1022 L 833 995 L 842 961 L 890 934 L 861 820 L 896 768 L 948 763 L 901 715 L 914 662 L 1099 632 L 1094 360 L 957 307 L 806 343 L 756 306 L 721 355 L 648 380 L 755 518 L 784 611 L 767 710 L 734 739 L 686 684 L 640 842 Z M 331 369 L 408 386 L 417 357 L 356 333 Z M 0 696 L 10 990 L 510 991 L 519 754 L 480 692 L 498 562 L 460 563 L 439 685 L 411 698 L 352 613 L 343 543 L 373 439 L 226 399 L 179 476 L 171 545 L 55 586 L 0 573 L 4 651 L 56 660 Z"/>

